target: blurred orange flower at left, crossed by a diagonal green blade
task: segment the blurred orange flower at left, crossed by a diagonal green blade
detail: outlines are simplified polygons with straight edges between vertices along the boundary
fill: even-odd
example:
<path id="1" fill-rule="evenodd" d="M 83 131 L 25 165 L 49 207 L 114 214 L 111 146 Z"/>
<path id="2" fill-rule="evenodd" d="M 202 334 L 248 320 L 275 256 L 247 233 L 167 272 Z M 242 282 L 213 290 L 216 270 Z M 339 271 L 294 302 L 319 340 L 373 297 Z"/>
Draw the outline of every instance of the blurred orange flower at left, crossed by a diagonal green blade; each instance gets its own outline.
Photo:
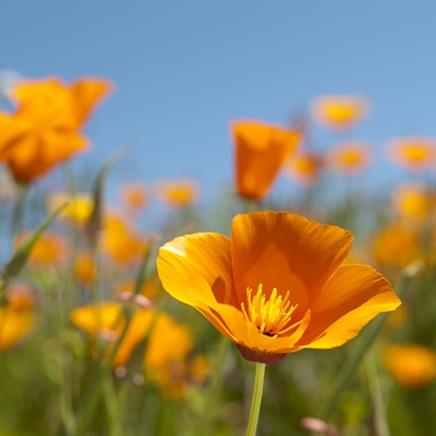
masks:
<path id="1" fill-rule="evenodd" d="M 14 246 L 17 248 L 31 236 L 24 232 L 17 236 Z M 34 266 L 49 266 L 62 263 L 68 252 L 68 244 L 58 233 L 45 232 L 36 241 L 30 253 L 29 261 Z"/>

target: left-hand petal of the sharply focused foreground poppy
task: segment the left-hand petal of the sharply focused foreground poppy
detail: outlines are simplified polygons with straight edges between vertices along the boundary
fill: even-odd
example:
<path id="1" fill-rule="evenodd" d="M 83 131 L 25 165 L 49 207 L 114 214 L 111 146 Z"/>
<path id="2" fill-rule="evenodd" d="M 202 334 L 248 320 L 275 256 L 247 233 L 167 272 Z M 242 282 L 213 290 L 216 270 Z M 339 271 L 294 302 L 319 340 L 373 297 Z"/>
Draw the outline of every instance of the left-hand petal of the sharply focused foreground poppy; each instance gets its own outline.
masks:
<path id="1" fill-rule="evenodd" d="M 194 233 L 159 250 L 157 270 L 165 290 L 200 308 L 234 300 L 230 240 L 219 233 Z"/>

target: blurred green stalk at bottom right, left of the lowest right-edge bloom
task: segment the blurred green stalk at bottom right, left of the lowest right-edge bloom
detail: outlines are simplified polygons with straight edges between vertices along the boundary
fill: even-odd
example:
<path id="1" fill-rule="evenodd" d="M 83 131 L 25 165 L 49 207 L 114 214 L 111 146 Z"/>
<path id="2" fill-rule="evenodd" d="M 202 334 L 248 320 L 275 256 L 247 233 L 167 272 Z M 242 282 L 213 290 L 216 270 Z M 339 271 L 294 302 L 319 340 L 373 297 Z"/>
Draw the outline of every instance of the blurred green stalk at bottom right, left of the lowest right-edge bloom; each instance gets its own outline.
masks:
<path id="1" fill-rule="evenodd" d="M 374 409 L 374 433 L 377 436 L 390 436 L 389 426 L 386 420 L 386 408 L 374 350 L 369 353 L 365 364 L 369 391 Z"/>

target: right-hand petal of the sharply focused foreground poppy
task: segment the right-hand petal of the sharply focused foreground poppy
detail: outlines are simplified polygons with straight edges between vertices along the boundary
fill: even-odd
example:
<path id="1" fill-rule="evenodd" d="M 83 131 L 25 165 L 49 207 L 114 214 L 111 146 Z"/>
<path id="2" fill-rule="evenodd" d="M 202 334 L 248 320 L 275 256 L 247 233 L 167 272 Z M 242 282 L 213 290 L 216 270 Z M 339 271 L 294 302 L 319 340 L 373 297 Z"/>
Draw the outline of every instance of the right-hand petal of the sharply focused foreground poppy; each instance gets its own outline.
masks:
<path id="1" fill-rule="evenodd" d="M 313 317 L 299 345 L 338 347 L 354 338 L 381 312 L 401 301 L 390 283 L 368 265 L 343 265 L 326 283 L 311 306 Z"/>

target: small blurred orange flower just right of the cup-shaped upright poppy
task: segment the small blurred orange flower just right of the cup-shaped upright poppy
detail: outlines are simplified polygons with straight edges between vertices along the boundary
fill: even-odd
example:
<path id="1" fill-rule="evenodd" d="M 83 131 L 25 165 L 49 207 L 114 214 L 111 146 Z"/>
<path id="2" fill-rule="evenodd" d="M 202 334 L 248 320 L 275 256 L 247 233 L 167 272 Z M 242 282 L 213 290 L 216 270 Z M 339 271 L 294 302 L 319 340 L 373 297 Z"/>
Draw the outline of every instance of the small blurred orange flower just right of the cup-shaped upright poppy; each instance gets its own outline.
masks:
<path id="1" fill-rule="evenodd" d="M 319 153 L 302 151 L 288 161 L 285 169 L 286 174 L 296 182 L 311 184 L 319 180 L 323 164 L 323 158 Z"/>

